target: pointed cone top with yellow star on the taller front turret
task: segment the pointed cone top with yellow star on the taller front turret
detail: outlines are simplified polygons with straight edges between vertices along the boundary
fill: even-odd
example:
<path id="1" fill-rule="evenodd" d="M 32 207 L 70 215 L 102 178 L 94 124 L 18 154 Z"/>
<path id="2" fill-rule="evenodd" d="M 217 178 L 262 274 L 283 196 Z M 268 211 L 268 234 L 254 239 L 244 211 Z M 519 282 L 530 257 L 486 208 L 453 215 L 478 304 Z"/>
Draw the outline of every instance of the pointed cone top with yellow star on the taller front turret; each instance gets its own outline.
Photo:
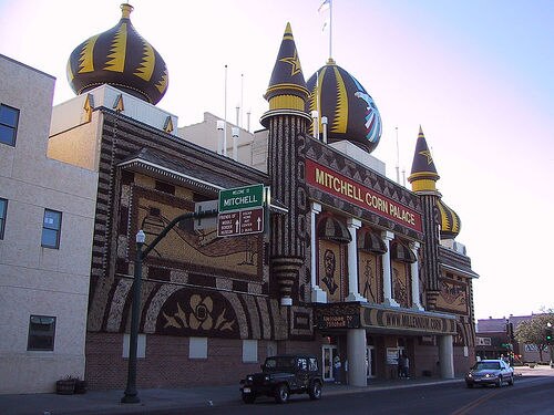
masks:
<path id="1" fill-rule="evenodd" d="M 268 118 L 273 115 L 296 114 L 304 115 L 309 120 L 309 115 L 305 111 L 308 89 L 290 23 L 287 23 L 285 28 L 269 86 L 264 97 L 269 102 L 269 111 L 260 120 L 265 127 L 267 127 Z"/>

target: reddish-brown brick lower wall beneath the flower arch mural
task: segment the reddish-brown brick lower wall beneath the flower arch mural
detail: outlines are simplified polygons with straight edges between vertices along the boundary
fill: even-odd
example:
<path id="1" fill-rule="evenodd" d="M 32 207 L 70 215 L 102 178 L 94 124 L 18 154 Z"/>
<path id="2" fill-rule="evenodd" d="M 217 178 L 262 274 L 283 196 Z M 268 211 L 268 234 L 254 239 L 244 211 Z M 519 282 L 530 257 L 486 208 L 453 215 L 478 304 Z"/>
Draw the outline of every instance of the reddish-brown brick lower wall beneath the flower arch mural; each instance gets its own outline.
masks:
<path id="1" fill-rule="evenodd" d="M 247 373 L 258 372 L 267 354 L 266 341 L 258 342 L 258 362 L 243 363 L 243 341 L 208 339 L 207 359 L 188 359 L 188 338 L 146 336 L 146 357 L 138 359 L 136 386 L 188 387 L 201 385 L 237 385 Z M 122 333 L 88 333 L 85 378 L 91 390 L 124 390 L 127 359 L 123 359 Z M 287 342 L 279 353 L 314 353 L 315 342 Z"/>

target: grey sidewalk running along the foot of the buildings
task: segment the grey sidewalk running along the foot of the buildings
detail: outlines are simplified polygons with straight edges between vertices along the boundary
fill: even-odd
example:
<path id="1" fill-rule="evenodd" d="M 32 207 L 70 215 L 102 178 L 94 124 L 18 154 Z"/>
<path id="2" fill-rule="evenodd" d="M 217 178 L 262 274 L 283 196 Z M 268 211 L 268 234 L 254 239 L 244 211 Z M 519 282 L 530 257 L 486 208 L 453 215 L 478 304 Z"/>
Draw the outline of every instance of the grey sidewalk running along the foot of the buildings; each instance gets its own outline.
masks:
<path id="1" fill-rule="evenodd" d="M 322 398 L 326 396 L 379 391 L 387 388 L 413 387 L 438 383 L 461 382 L 456 380 L 439 380 L 419 377 L 394 381 L 369 381 L 368 386 L 349 386 L 326 384 Z M 121 404 L 121 391 L 89 391 L 82 395 L 25 394 L 0 395 L 0 414 L 2 415 L 69 415 L 69 414 L 155 414 L 167 409 L 192 408 L 203 406 L 242 405 L 239 385 L 206 386 L 191 388 L 151 388 L 138 390 L 138 404 Z M 301 398 L 293 395 L 291 398 Z"/>

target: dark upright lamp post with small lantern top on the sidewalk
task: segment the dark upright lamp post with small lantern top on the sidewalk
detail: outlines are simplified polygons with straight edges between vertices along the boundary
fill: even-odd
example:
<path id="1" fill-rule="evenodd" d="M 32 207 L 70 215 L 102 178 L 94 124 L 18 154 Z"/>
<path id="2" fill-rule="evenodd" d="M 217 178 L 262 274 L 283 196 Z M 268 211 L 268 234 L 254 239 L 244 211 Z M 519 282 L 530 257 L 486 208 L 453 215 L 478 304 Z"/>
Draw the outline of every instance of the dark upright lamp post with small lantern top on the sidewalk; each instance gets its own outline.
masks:
<path id="1" fill-rule="evenodd" d="M 142 247 L 146 239 L 146 235 L 141 229 L 136 232 L 136 257 L 133 280 L 133 307 L 131 310 L 131 338 L 129 342 L 129 369 L 127 369 L 127 386 L 125 394 L 121 398 L 123 404 L 140 403 L 136 392 L 136 343 L 138 338 L 138 320 L 141 313 L 141 280 L 142 280 Z"/>

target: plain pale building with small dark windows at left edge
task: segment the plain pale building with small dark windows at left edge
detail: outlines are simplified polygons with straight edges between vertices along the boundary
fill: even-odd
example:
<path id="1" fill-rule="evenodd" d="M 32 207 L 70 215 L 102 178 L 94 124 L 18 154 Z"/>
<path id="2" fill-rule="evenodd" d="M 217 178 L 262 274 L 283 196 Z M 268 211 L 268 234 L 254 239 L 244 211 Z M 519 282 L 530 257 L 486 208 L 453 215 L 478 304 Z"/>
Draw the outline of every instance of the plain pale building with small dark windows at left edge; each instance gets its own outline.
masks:
<path id="1" fill-rule="evenodd" d="M 55 79 L 0 55 L 0 393 L 84 375 L 98 173 L 47 157 Z"/>

